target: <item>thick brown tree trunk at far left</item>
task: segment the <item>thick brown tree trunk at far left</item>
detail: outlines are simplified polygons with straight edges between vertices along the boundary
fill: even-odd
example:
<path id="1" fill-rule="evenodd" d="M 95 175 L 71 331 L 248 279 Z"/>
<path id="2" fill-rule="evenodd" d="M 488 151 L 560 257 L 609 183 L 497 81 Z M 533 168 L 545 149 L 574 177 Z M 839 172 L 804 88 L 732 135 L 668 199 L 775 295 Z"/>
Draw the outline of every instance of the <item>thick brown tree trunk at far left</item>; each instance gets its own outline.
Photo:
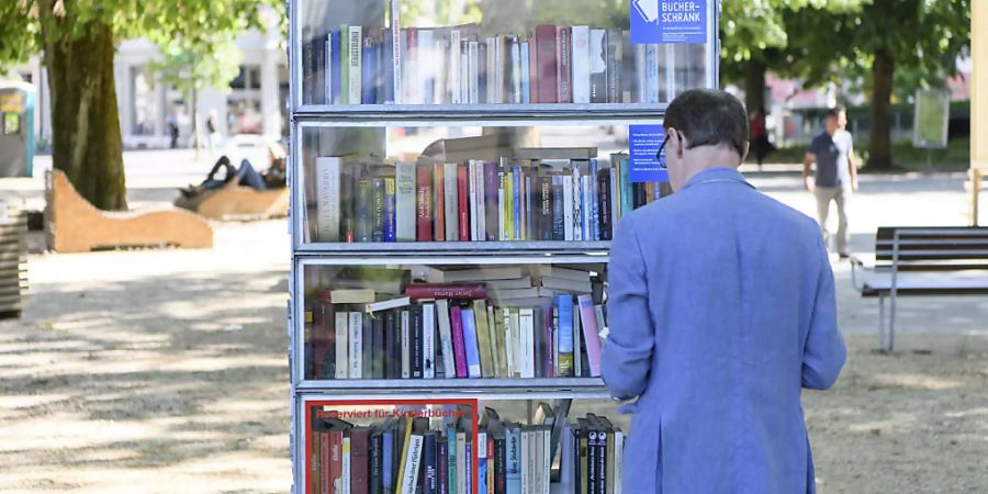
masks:
<path id="1" fill-rule="evenodd" d="M 71 15 L 52 21 L 63 24 L 55 27 L 59 32 L 81 31 L 78 36 L 64 35 L 45 45 L 54 166 L 65 171 L 94 206 L 126 210 L 123 143 L 113 79 L 113 29 L 99 21 L 70 26 L 78 24 Z"/>

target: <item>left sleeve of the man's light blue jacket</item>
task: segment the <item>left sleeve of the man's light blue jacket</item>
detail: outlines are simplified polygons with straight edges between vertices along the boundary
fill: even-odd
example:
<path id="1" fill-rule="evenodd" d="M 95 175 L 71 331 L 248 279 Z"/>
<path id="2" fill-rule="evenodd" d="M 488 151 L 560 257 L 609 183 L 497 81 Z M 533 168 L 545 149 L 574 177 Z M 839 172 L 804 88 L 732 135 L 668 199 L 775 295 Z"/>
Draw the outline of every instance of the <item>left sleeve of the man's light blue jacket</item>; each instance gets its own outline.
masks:
<path id="1" fill-rule="evenodd" d="M 611 396 L 631 398 L 644 392 L 654 347 L 648 282 L 633 216 L 621 221 L 610 249 L 607 316 L 602 373 Z"/>

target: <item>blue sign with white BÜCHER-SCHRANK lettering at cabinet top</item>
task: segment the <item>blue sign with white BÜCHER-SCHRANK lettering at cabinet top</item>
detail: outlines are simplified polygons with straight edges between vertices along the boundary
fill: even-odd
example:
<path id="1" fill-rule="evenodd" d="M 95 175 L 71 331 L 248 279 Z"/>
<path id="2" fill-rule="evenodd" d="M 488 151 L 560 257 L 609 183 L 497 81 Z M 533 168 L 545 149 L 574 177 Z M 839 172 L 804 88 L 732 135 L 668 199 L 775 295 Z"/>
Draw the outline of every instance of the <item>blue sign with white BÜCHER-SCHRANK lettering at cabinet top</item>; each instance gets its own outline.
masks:
<path id="1" fill-rule="evenodd" d="M 707 43 L 707 0 L 631 0 L 631 43 Z"/>

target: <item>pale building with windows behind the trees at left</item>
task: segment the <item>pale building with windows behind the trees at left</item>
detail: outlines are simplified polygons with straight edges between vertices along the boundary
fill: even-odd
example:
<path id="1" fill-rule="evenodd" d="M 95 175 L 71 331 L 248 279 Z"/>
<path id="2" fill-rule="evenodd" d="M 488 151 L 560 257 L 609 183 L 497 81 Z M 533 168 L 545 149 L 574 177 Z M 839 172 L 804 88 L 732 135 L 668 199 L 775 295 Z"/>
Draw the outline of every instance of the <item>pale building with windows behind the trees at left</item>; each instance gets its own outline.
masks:
<path id="1" fill-rule="evenodd" d="M 221 135 L 254 134 L 267 139 L 288 135 L 289 94 L 288 56 L 281 32 L 277 29 L 252 30 L 237 40 L 242 53 L 239 75 L 228 88 L 203 88 L 199 94 L 200 126 L 205 119 L 218 115 Z M 120 44 L 113 61 L 120 126 L 124 148 L 167 148 L 171 145 L 170 124 L 179 128 L 179 147 L 194 143 L 192 105 L 175 88 L 158 83 L 146 69 L 148 60 L 158 57 L 157 47 L 147 40 L 127 40 Z M 37 88 L 35 135 L 40 147 L 52 142 L 52 105 L 48 81 L 41 57 L 14 70 Z"/>

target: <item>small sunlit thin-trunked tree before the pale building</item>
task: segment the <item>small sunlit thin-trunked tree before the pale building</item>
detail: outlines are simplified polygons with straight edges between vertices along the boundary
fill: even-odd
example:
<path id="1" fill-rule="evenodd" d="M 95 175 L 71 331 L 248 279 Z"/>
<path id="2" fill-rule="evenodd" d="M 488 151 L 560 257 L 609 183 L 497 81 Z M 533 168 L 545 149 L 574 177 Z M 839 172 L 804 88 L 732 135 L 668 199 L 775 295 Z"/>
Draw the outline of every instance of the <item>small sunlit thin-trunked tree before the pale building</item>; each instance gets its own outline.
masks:
<path id="1" fill-rule="evenodd" d="M 168 40 L 158 45 L 161 59 L 148 64 L 161 83 L 176 88 L 191 101 L 197 157 L 202 148 L 199 91 L 205 87 L 223 88 L 239 70 L 240 53 L 233 34 L 203 33 Z"/>

